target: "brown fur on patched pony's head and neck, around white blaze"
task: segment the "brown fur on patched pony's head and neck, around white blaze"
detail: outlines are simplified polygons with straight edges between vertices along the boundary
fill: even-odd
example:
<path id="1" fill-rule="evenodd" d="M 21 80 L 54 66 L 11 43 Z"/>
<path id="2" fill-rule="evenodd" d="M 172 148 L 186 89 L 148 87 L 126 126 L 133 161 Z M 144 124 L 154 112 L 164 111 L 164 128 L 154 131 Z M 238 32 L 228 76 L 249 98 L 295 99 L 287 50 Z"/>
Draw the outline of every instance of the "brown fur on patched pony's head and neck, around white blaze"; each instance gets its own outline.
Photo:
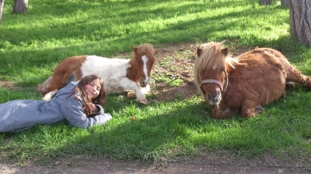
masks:
<path id="1" fill-rule="evenodd" d="M 145 76 L 141 68 L 143 66 L 142 56 L 146 55 L 148 57 L 147 70 L 148 76 L 150 76 L 155 61 L 154 55 L 157 54 L 159 50 L 154 49 L 150 44 L 142 44 L 138 47 L 132 47 L 132 50 L 134 51 L 134 54 L 129 62 L 131 67 L 127 69 L 126 76 L 139 84 L 139 78 Z M 145 79 L 146 77 L 143 80 Z"/>

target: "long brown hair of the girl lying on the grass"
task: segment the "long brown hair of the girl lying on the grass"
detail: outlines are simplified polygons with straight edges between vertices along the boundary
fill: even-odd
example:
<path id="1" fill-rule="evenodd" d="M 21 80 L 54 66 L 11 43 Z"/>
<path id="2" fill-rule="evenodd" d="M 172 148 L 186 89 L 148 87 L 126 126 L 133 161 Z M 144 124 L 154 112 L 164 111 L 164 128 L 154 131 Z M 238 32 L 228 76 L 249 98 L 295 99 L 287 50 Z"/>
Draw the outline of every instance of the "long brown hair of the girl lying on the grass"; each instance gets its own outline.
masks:
<path id="1" fill-rule="evenodd" d="M 98 96 L 91 100 L 91 98 L 89 97 L 89 95 L 86 92 L 85 85 L 91 83 L 91 81 L 93 81 L 95 79 L 99 80 L 101 87 L 100 87 L 100 92 L 99 92 Z M 88 117 L 92 113 L 91 112 L 91 103 L 99 104 L 99 105 L 105 105 L 107 102 L 107 92 L 106 92 L 106 89 L 104 87 L 104 82 L 103 82 L 103 80 L 101 80 L 101 78 L 99 76 L 96 76 L 96 75 L 89 75 L 89 76 L 83 77 L 79 81 L 79 83 L 72 89 L 71 94 L 69 94 L 66 99 L 68 99 L 72 95 L 74 95 L 73 98 L 76 98 L 77 100 L 81 96 L 82 101 L 83 101 L 83 107 L 81 109 L 84 110 L 86 117 Z"/>

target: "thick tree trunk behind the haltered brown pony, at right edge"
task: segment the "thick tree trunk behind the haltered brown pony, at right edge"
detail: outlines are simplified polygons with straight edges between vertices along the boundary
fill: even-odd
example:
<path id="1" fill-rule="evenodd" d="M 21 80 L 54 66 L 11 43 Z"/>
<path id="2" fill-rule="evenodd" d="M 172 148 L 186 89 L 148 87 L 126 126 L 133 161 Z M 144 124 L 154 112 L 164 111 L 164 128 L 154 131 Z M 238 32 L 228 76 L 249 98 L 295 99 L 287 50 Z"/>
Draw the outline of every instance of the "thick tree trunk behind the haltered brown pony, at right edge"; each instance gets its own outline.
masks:
<path id="1" fill-rule="evenodd" d="M 311 1 L 289 0 L 290 34 L 302 44 L 311 45 Z"/>

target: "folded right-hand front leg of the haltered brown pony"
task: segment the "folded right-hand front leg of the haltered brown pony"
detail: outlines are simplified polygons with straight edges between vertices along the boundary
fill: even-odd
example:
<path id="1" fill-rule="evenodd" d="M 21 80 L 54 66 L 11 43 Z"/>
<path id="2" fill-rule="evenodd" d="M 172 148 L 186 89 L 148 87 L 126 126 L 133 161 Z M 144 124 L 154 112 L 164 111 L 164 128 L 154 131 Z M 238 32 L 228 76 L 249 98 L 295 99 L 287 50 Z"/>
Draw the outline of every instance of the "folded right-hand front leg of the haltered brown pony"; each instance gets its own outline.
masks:
<path id="1" fill-rule="evenodd" d="M 263 113 L 265 110 L 262 106 L 260 106 L 260 103 L 258 101 L 254 100 L 244 100 L 242 102 L 241 107 L 241 116 L 242 117 L 256 117 L 257 114 Z"/>

